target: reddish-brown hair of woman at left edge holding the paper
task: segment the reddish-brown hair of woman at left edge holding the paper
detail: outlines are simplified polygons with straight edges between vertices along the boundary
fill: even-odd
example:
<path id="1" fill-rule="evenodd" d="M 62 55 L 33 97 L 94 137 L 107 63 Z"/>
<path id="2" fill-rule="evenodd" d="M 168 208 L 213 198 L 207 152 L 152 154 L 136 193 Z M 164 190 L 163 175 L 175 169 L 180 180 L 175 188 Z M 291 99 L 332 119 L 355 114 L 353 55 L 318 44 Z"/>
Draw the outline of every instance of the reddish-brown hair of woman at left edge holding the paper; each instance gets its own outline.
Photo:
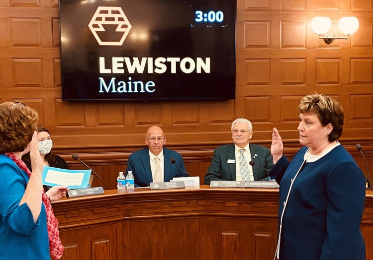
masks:
<path id="1" fill-rule="evenodd" d="M 21 152 L 37 128 L 38 113 L 22 103 L 0 104 L 0 153 Z"/>

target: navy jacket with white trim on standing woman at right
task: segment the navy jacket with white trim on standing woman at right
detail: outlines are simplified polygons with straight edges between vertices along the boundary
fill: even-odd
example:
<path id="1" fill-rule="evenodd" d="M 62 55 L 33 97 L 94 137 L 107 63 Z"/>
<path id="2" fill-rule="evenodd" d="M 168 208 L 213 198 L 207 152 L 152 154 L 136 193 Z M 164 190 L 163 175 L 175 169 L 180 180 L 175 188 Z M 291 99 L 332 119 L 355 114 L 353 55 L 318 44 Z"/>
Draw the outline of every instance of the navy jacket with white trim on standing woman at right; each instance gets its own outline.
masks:
<path id="1" fill-rule="evenodd" d="M 307 149 L 270 172 L 280 184 L 280 260 L 365 260 L 364 174 L 342 145 L 301 167 Z"/>

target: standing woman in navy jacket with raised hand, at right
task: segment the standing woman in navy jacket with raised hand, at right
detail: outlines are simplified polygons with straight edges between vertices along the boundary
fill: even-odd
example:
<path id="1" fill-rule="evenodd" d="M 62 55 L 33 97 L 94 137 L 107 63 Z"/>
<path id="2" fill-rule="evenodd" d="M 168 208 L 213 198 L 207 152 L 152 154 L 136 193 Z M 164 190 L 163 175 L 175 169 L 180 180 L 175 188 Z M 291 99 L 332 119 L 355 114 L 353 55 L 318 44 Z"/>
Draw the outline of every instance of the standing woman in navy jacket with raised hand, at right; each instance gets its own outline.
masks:
<path id="1" fill-rule="evenodd" d="M 291 163 L 275 128 L 271 178 L 280 184 L 279 239 L 275 259 L 365 260 L 360 231 L 365 178 L 337 139 L 343 109 L 324 95 L 303 97 L 298 110 L 301 148 Z"/>

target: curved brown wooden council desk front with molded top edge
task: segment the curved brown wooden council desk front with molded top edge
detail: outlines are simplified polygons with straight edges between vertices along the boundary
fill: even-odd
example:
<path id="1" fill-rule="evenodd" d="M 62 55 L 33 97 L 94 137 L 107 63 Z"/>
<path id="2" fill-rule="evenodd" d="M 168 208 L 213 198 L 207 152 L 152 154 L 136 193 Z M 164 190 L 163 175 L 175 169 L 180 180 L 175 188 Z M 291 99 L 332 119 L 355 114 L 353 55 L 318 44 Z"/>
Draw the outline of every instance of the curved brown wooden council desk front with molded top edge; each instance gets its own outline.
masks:
<path id="1" fill-rule="evenodd" d="M 63 260 L 272 260 L 278 189 L 135 189 L 53 203 Z M 373 260 L 373 192 L 361 224 Z"/>

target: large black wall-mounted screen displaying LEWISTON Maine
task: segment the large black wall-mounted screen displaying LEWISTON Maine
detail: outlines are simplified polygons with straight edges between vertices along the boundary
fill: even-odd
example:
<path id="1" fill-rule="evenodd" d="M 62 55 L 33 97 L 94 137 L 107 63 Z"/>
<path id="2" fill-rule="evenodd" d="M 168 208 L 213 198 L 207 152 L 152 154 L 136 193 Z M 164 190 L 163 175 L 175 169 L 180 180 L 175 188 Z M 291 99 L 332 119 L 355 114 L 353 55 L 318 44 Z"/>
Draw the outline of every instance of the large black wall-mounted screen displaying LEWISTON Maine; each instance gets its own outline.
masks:
<path id="1" fill-rule="evenodd" d="M 62 98 L 235 98 L 236 0 L 60 0 Z"/>

